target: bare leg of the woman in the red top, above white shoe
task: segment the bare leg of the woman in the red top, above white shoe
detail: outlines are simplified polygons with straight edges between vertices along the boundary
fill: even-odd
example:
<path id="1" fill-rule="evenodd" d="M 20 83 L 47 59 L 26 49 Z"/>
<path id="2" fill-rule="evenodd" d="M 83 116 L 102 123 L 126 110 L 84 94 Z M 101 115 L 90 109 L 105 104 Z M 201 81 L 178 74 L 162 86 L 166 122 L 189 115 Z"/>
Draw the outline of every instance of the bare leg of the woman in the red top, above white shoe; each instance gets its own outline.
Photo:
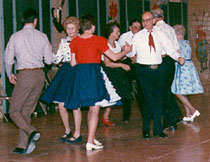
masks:
<path id="1" fill-rule="evenodd" d="M 99 106 L 90 106 L 88 112 L 88 143 L 94 144 L 95 133 L 98 125 Z"/>

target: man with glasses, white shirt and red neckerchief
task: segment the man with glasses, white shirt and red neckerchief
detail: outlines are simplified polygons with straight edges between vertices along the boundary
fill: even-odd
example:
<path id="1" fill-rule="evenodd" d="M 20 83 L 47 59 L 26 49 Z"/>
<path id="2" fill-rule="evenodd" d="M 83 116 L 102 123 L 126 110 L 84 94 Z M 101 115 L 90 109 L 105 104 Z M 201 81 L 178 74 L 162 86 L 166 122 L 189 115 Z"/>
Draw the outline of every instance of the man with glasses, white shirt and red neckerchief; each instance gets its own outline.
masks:
<path id="1" fill-rule="evenodd" d="M 184 58 L 172 48 L 171 42 L 159 30 L 153 28 L 155 20 L 150 12 L 142 14 L 143 30 L 135 34 L 132 45 L 133 52 L 137 55 L 136 75 L 144 94 L 142 137 L 149 139 L 150 122 L 153 119 L 154 137 L 166 138 L 163 133 L 162 115 L 162 88 L 161 71 L 162 50 L 180 64 L 184 64 Z"/>

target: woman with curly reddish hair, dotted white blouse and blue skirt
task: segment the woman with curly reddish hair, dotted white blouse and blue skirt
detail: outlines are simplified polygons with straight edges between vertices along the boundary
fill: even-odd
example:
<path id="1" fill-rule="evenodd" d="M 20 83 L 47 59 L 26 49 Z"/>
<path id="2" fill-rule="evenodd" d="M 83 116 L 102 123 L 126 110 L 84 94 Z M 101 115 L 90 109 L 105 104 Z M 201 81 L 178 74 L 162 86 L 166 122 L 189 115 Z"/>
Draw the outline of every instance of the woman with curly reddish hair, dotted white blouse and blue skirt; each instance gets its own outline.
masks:
<path id="1" fill-rule="evenodd" d="M 59 114 L 65 128 L 65 132 L 59 140 L 66 143 L 77 143 L 82 140 L 82 136 L 80 135 L 80 126 L 82 120 L 81 111 L 80 109 L 73 111 L 75 132 L 72 136 L 72 131 L 69 125 L 69 115 L 67 109 L 64 107 L 64 102 L 68 93 L 68 85 L 70 84 L 70 78 L 72 75 L 69 44 L 72 39 L 78 35 L 79 20 L 74 16 L 68 17 L 64 21 L 63 26 L 67 37 L 61 39 L 56 54 L 53 54 L 53 63 L 62 63 L 62 66 L 56 73 L 56 76 L 53 78 L 47 90 L 41 96 L 41 100 L 46 103 L 58 103 Z"/>

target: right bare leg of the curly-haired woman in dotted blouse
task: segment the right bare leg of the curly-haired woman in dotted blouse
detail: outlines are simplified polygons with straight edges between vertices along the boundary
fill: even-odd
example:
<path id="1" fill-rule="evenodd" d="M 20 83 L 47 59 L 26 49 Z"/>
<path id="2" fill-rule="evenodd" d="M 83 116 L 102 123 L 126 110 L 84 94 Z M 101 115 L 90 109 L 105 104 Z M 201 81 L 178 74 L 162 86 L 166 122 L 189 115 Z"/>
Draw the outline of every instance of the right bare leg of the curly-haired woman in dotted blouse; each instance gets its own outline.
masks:
<path id="1" fill-rule="evenodd" d="M 77 110 L 73 110 L 73 114 L 74 114 L 74 126 L 75 126 L 74 137 L 78 138 L 80 136 L 80 128 L 82 123 L 82 113 L 80 108 L 78 108 Z"/>

